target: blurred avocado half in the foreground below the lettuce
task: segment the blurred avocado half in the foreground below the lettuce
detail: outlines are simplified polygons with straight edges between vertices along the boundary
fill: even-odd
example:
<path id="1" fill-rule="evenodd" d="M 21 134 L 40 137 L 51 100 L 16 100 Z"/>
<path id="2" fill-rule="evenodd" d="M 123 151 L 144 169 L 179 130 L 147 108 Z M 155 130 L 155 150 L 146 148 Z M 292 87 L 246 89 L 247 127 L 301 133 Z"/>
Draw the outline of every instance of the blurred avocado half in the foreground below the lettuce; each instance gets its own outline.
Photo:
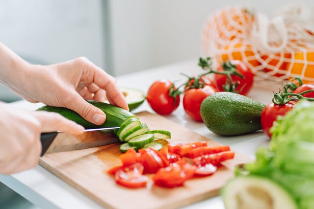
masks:
<path id="1" fill-rule="evenodd" d="M 226 209 L 297 209 L 291 195 L 270 179 L 240 176 L 222 189 Z"/>

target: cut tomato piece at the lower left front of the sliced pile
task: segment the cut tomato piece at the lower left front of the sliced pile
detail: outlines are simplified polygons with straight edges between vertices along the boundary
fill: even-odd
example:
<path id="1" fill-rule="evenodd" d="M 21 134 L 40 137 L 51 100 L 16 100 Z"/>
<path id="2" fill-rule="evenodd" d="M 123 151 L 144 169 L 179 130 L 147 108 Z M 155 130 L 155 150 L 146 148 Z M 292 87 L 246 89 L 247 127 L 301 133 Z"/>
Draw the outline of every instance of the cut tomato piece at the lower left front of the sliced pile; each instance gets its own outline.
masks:
<path id="1" fill-rule="evenodd" d="M 136 166 L 130 167 L 128 170 L 118 170 L 114 176 L 116 183 L 129 188 L 145 187 L 149 178 L 142 174 L 141 166 L 143 165 L 136 163 Z"/>

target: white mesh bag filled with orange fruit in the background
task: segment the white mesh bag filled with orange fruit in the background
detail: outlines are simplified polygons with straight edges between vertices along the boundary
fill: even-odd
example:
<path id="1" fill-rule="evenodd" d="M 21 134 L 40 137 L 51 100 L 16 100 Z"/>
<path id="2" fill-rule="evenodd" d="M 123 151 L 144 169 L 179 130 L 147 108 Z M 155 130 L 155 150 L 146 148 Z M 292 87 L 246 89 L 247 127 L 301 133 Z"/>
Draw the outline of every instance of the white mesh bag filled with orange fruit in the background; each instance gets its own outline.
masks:
<path id="1" fill-rule="evenodd" d="M 312 12 L 313 13 L 313 12 Z M 314 81 L 314 14 L 288 6 L 269 20 L 252 9 L 235 6 L 209 16 L 202 28 L 202 52 L 214 58 L 242 60 L 257 80 L 282 83 L 292 76 Z"/>

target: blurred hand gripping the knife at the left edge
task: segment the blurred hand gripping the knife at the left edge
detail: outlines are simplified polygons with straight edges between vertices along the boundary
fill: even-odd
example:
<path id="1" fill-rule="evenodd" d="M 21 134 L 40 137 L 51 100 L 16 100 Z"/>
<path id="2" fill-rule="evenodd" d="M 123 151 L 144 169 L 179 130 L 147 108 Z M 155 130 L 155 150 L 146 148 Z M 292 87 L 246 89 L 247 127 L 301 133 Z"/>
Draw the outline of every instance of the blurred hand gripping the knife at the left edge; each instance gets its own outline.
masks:
<path id="1" fill-rule="evenodd" d="M 27 111 L 0 103 L 0 173 L 17 173 L 37 165 L 40 134 L 64 131 L 81 134 L 84 128 L 65 117 L 45 111 Z"/>

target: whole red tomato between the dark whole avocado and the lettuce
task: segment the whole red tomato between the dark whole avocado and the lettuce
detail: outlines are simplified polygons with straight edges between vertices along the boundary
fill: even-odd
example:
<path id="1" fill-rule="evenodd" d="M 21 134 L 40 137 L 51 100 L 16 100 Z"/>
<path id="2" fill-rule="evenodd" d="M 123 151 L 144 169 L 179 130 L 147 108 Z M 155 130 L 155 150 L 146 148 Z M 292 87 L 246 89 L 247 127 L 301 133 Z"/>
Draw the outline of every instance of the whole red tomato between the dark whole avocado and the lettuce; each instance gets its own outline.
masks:
<path id="1" fill-rule="evenodd" d="M 271 138 L 270 128 L 273 126 L 277 116 L 284 116 L 295 106 L 295 102 L 288 102 L 283 105 L 275 104 L 273 102 L 266 105 L 261 114 L 261 125 L 265 134 Z"/>

